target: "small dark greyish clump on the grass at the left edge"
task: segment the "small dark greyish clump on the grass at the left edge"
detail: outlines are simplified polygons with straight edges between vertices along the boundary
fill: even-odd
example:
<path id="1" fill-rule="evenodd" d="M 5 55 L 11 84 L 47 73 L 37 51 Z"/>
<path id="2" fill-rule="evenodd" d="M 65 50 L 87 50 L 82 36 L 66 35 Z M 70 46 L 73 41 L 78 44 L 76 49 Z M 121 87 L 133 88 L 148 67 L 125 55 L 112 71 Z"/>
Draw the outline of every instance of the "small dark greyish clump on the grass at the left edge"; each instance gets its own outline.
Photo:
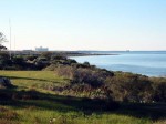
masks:
<path id="1" fill-rule="evenodd" d="M 8 89 L 8 87 L 12 87 L 10 80 L 7 78 L 0 78 L 0 89 Z"/>

